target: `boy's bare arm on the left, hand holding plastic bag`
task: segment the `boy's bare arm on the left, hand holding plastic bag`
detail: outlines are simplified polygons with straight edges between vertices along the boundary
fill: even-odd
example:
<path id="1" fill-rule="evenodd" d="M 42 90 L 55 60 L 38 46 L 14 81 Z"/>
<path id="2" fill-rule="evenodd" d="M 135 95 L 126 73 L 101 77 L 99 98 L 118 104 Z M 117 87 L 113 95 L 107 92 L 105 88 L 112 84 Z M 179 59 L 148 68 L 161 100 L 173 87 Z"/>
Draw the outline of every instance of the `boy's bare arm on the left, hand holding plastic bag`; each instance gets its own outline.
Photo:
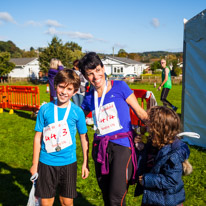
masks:
<path id="1" fill-rule="evenodd" d="M 34 145 L 33 145 L 33 161 L 32 161 L 32 167 L 30 169 L 31 175 L 34 175 L 37 172 L 38 163 L 39 163 L 39 153 L 41 149 L 41 139 L 42 139 L 42 132 L 36 132 L 34 136 Z"/>

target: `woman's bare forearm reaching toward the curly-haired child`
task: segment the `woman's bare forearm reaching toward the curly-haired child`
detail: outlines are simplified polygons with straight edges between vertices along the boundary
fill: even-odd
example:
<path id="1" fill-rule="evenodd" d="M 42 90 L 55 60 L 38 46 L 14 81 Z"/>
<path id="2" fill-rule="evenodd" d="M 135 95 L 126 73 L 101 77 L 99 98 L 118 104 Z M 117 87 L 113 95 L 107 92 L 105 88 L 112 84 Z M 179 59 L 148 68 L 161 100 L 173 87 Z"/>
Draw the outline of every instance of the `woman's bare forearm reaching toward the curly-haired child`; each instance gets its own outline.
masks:
<path id="1" fill-rule="evenodd" d="M 140 107 L 137 98 L 135 97 L 134 93 L 132 93 L 127 99 L 127 104 L 134 110 L 136 115 L 143 121 L 146 121 L 148 119 L 147 112 Z"/>

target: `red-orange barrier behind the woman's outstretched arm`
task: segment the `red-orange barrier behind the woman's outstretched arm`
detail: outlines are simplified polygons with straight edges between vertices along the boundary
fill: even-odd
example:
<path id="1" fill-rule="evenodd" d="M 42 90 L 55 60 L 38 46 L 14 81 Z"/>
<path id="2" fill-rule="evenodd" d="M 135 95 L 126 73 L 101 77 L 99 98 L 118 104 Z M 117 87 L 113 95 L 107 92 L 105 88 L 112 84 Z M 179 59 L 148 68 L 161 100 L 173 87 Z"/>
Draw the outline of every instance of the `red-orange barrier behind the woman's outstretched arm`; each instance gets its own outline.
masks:
<path id="1" fill-rule="evenodd" d="M 137 98 L 138 102 L 140 103 L 140 106 L 143 109 L 149 109 L 150 108 L 150 97 L 146 98 L 147 90 L 144 89 L 132 89 L 134 91 L 134 95 Z M 130 108 L 130 117 L 131 117 L 131 123 L 134 126 L 144 126 L 144 123 L 136 116 L 134 111 Z"/>

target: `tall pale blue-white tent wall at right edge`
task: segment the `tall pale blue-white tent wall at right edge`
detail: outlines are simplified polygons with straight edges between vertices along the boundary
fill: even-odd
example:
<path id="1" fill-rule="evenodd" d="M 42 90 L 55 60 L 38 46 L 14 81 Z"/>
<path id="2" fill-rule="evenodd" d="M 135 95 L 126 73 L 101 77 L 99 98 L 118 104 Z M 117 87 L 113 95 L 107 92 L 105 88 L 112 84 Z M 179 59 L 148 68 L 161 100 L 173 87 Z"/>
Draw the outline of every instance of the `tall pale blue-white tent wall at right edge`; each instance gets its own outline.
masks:
<path id="1" fill-rule="evenodd" d="M 184 140 L 206 147 L 206 9 L 185 23 L 183 53 L 183 128 L 200 135 Z"/>

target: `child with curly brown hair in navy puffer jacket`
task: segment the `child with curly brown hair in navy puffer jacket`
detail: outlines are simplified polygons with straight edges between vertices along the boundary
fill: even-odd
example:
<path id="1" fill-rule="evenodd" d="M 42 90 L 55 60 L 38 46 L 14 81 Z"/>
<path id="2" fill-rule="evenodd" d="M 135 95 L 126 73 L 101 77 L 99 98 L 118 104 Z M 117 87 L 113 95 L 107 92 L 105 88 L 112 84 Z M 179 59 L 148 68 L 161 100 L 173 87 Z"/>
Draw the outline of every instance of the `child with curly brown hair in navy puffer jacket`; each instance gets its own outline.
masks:
<path id="1" fill-rule="evenodd" d="M 179 137 L 180 118 L 175 111 L 155 106 L 148 111 L 150 141 L 158 152 L 148 173 L 139 176 L 142 205 L 179 206 L 185 201 L 182 175 L 192 172 L 189 148 Z M 142 148 L 141 148 L 142 149 Z"/>

